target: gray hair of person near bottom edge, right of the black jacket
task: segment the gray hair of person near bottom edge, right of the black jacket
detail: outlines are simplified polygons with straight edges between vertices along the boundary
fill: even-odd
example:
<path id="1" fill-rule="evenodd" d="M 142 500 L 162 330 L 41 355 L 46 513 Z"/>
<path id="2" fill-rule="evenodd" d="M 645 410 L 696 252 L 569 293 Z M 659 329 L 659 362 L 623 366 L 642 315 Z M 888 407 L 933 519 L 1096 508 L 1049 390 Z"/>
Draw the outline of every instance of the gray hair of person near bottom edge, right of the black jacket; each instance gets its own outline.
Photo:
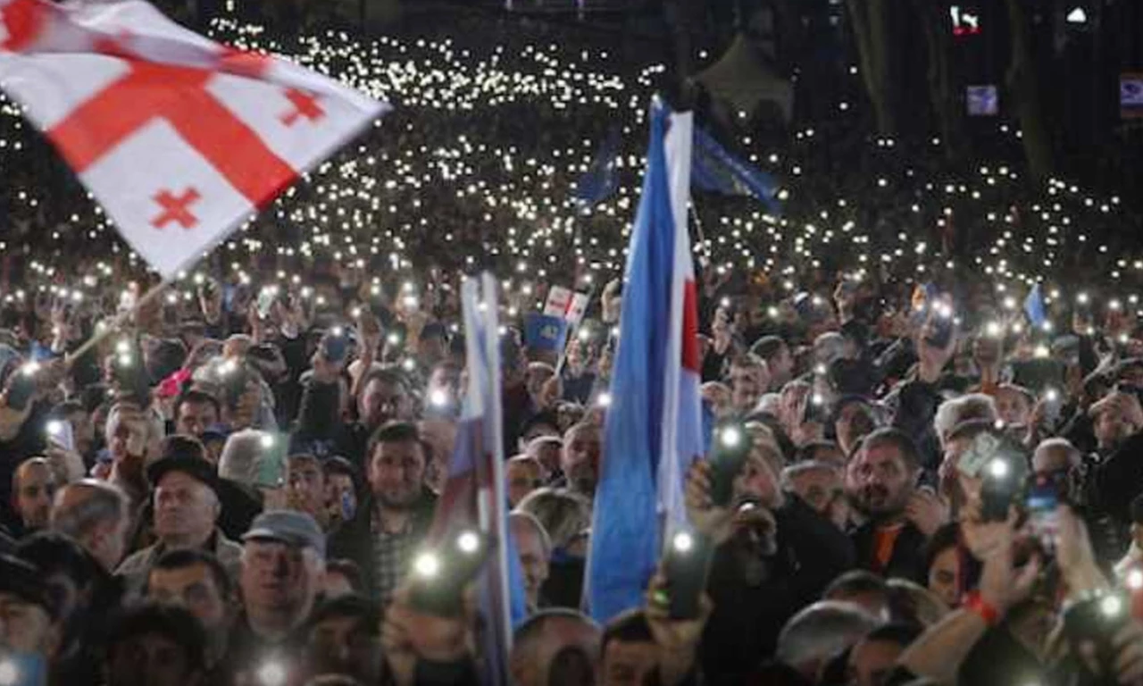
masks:
<path id="1" fill-rule="evenodd" d="M 782 628 L 775 657 L 794 668 L 829 660 L 878 624 L 877 617 L 860 605 L 839 600 L 815 603 Z"/>

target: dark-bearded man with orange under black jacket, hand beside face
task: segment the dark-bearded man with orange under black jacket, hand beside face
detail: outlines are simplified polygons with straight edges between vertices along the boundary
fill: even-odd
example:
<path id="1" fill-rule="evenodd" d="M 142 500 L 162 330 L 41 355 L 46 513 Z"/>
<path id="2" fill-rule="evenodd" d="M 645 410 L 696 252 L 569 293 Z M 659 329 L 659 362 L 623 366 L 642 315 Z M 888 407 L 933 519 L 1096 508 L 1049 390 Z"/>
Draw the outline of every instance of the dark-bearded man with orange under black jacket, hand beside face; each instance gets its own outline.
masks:
<path id="1" fill-rule="evenodd" d="M 857 447 L 847 496 L 866 518 L 853 533 L 863 569 L 924 581 L 922 548 L 948 519 L 948 508 L 917 489 L 919 460 L 913 441 L 895 429 L 874 431 Z"/>

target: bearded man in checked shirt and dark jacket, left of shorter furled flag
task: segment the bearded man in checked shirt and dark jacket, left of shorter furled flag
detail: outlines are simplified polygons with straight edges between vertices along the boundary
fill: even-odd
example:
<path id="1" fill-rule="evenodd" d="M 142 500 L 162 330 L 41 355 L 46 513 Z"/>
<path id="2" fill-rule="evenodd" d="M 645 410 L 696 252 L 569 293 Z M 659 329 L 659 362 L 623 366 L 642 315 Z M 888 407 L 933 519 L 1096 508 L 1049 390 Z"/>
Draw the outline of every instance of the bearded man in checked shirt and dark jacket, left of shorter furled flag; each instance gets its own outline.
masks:
<path id="1" fill-rule="evenodd" d="M 358 564 L 369 595 L 384 606 L 432 524 L 437 496 L 424 486 L 432 450 L 415 424 L 392 422 L 373 434 L 366 454 L 370 493 L 329 548 L 331 558 Z"/>

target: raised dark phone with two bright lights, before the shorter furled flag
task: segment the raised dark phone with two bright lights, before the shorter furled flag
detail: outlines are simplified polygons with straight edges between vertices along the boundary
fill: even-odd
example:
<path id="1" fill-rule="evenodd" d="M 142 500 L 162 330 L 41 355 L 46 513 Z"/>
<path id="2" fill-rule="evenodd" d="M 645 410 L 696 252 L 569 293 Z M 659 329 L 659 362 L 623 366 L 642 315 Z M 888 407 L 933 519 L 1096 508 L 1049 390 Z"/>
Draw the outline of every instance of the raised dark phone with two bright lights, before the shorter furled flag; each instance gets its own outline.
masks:
<path id="1" fill-rule="evenodd" d="M 413 563 L 413 607 L 442 617 L 461 614 L 464 588 L 477 577 L 491 555 L 491 540 L 477 531 L 449 534 L 445 543 L 419 553 Z"/>

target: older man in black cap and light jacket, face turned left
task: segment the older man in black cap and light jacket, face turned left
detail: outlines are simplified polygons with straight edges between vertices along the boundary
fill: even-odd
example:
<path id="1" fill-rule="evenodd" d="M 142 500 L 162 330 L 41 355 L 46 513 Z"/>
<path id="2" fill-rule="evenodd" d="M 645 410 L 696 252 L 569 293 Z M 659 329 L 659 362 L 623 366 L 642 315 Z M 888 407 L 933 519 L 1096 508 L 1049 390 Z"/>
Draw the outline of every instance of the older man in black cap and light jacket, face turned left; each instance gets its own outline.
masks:
<path id="1" fill-rule="evenodd" d="M 206 550 L 237 579 L 242 549 L 215 526 L 222 509 L 214 466 L 199 457 L 166 457 L 147 468 L 147 479 L 154 488 L 154 534 L 159 540 L 128 557 L 115 572 L 126 580 L 128 592 L 142 591 L 151 566 L 169 550 Z"/>

